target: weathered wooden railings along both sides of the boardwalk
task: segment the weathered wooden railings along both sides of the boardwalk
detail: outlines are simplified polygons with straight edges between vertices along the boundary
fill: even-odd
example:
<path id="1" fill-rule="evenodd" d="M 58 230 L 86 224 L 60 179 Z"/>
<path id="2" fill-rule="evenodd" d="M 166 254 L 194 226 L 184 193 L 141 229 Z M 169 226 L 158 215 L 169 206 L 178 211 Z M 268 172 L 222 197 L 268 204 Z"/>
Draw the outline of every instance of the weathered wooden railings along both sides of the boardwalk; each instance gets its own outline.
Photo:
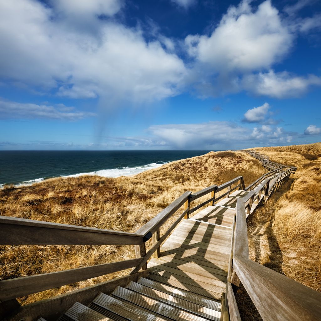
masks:
<path id="1" fill-rule="evenodd" d="M 136 233 L 0 216 L 0 227 L 3 231 L 0 234 L 0 244 L 134 245 L 136 253 L 135 259 L 0 281 L 0 312 L 4 311 L 5 313 L 5 311 L 14 307 L 22 311 L 17 318 L 19 315 L 23 315 L 24 317 L 27 316 L 25 317 L 26 320 L 32 320 L 33 316 L 39 315 L 39 311 L 44 309 L 45 303 L 50 305 L 51 308 L 59 307 L 59 309 L 64 309 L 68 304 L 71 305 L 74 298 L 79 299 L 79 296 L 84 298 L 86 293 L 88 298 L 94 296 L 100 289 L 100 285 L 81 289 L 77 293 L 67 293 L 63 295 L 63 299 L 57 297 L 57 299 L 48 299 L 49 301 L 44 300 L 46 302 L 43 305 L 33 304 L 20 307 L 16 298 L 128 268 L 133 268 L 133 270 L 126 278 L 134 280 L 137 278 L 138 273 L 142 273 L 139 271 L 146 270 L 147 261 L 151 256 L 159 257 L 161 244 L 183 218 L 188 218 L 189 214 L 206 204 L 213 205 L 219 199 L 229 196 L 232 191 L 238 189 L 248 190 L 250 193 L 243 199 L 239 198 L 237 200 L 236 215 L 234 216 L 230 265 L 224 303 L 229 311 L 231 320 L 240 320 L 239 310 L 231 286 L 231 284 L 238 286 L 239 282 L 242 282 L 248 291 L 264 320 L 317 320 L 316 311 L 320 312 L 318 308 L 320 308 L 321 299 L 317 301 L 313 297 L 320 298 L 318 292 L 249 260 L 248 256 L 246 213 L 252 213 L 257 206 L 263 204 L 272 195 L 273 191 L 279 189 L 289 179 L 290 174 L 295 172 L 296 168 L 271 162 L 267 156 L 254 151 L 241 152 L 247 152 L 256 157 L 270 171 L 248 187 L 245 187 L 243 177 L 238 176 L 220 186 L 212 185 L 194 194 L 187 191 L 137 230 Z M 217 196 L 218 192 L 222 192 L 221 195 Z M 206 201 L 194 207 L 192 206 L 195 200 L 208 194 L 210 196 Z M 182 212 L 177 220 L 160 236 L 160 227 L 183 205 L 184 209 L 181 210 Z M 146 252 L 145 242 L 151 238 L 152 247 Z M 125 282 L 124 279 L 119 280 L 119 284 Z M 281 287 L 280 284 L 282 284 Z M 282 308 L 289 311 L 286 317 L 283 318 L 277 312 L 279 311 L 278 309 Z M 275 317 L 271 317 L 272 310 L 275 311 Z M 302 317 L 302 313 L 305 313 L 305 317 Z"/>

